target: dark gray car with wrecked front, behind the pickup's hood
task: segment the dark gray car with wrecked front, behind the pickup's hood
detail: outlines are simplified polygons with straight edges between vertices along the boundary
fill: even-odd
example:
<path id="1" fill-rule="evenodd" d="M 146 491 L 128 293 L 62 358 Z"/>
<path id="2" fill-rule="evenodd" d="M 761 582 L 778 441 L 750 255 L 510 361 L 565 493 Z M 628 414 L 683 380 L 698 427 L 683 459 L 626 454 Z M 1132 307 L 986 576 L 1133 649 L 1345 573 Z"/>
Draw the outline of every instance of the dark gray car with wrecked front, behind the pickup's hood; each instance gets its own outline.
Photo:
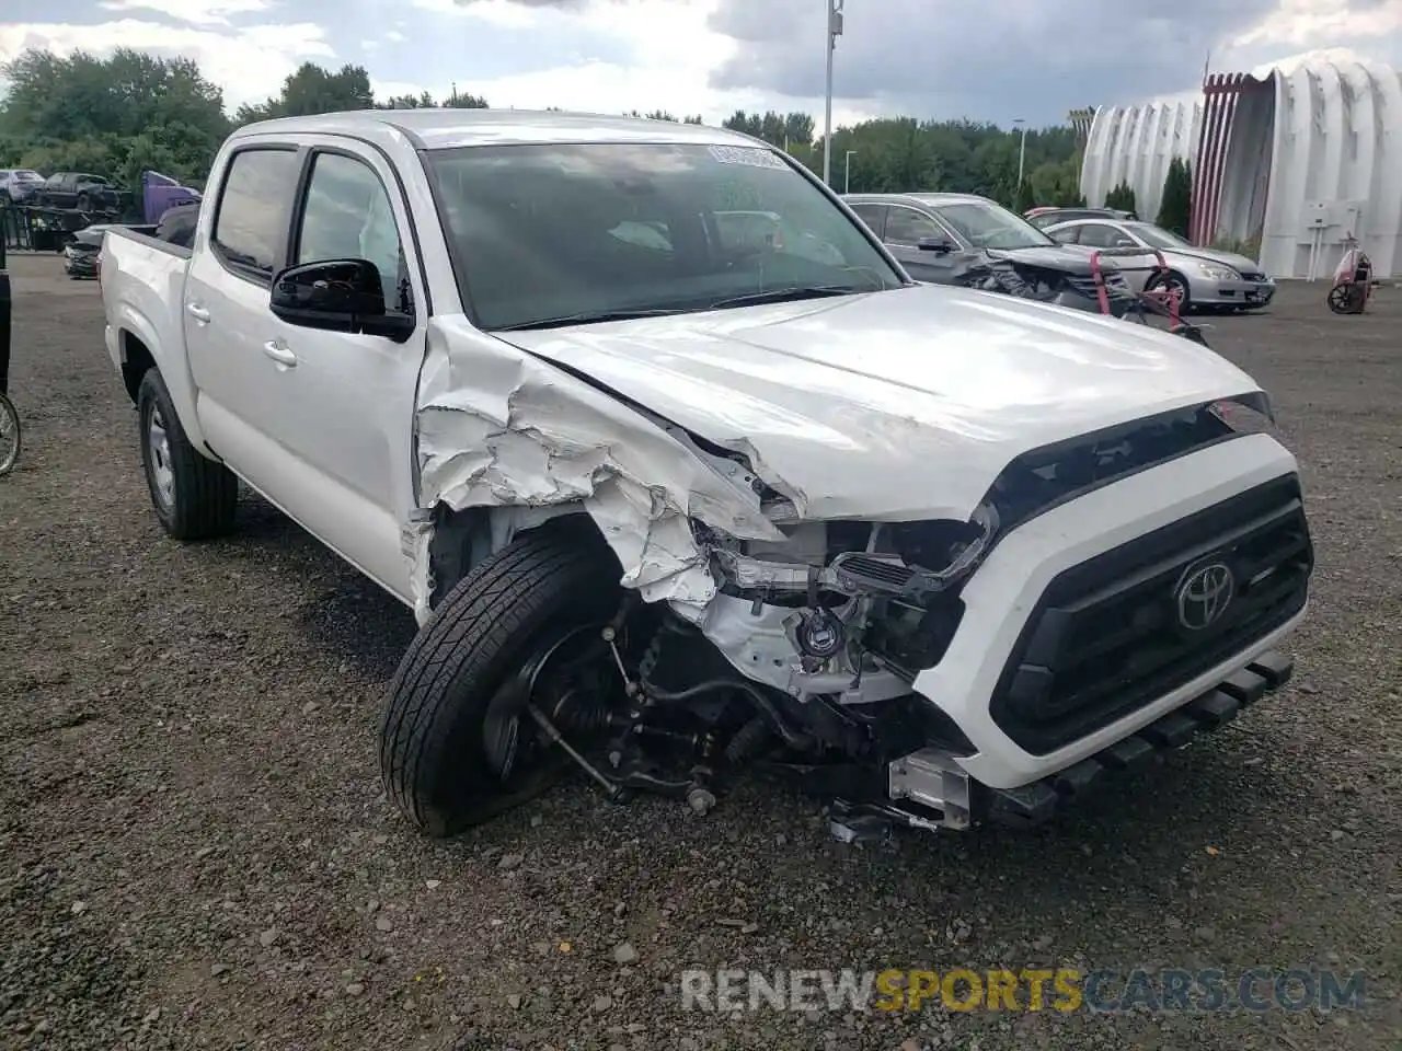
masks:
<path id="1" fill-rule="evenodd" d="M 850 193 L 858 217 L 930 284 L 974 284 L 969 275 L 1011 268 L 1018 294 L 1077 310 L 1101 310 L 1091 254 L 1057 244 L 1025 219 L 973 193 Z M 1101 263 L 1109 308 L 1122 317 L 1133 303 L 1113 262 Z M 1008 282 L 997 282 L 1007 289 Z M 993 287 L 993 284 L 974 284 Z"/>

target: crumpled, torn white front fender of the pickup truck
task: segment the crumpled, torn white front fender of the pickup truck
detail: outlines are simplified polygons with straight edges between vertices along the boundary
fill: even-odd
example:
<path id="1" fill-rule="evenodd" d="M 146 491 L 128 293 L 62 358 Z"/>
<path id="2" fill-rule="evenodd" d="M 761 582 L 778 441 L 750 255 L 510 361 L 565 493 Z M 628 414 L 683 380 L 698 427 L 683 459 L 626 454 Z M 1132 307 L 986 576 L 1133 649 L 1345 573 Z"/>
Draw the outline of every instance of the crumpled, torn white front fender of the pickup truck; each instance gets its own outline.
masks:
<path id="1" fill-rule="evenodd" d="M 617 399 L 471 329 L 435 320 L 418 397 L 421 504 L 582 504 L 622 563 L 622 584 L 693 618 L 715 597 L 691 518 L 742 540 L 782 541 L 758 496 Z M 428 619 L 429 542 L 419 524 L 414 600 Z"/>

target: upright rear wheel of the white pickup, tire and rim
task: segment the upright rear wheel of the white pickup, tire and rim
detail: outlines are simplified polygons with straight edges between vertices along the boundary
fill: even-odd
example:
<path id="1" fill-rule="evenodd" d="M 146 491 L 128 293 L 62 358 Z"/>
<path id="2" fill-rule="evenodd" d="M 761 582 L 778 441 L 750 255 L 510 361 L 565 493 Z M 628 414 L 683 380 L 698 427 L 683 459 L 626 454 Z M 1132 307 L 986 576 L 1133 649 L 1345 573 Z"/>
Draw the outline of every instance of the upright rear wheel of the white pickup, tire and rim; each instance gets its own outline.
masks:
<path id="1" fill-rule="evenodd" d="M 165 381 L 147 369 L 136 392 L 142 468 L 151 506 L 172 540 L 210 540 L 234 528 L 238 479 L 196 451 L 185 436 Z"/>

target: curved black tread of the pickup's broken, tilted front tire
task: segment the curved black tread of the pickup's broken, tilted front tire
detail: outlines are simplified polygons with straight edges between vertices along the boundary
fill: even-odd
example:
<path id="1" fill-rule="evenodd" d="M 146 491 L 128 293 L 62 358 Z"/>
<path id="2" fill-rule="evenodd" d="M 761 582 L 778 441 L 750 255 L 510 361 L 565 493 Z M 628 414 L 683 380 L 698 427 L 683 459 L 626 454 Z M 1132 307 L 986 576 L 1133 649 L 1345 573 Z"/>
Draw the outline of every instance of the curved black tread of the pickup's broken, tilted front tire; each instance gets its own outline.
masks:
<path id="1" fill-rule="evenodd" d="M 395 807 L 429 835 L 454 835 L 548 788 L 541 782 L 508 797 L 492 795 L 494 785 L 478 776 L 474 793 L 481 769 L 457 761 L 495 689 L 524 659 L 523 643 L 571 605 L 614 601 L 613 552 L 596 533 L 554 526 L 474 566 L 415 636 L 390 684 L 380 720 L 381 779 Z M 443 795 L 454 778 L 463 785 L 456 804 Z"/>

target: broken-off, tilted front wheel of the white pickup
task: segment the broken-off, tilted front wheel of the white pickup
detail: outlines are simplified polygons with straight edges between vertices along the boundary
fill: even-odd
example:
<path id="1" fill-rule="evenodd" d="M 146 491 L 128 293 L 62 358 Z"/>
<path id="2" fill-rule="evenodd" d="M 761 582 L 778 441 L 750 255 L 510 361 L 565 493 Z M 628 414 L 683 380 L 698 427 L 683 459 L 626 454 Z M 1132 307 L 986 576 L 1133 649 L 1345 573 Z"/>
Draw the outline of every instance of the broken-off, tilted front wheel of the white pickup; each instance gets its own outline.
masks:
<path id="1" fill-rule="evenodd" d="M 380 722 L 386 792 L 421 831 L 456 835 L 565 772 L 524 705 L 544 706 L 537 674 L 550 654 L 579 642 L 603 646 L 601 628 L 621 598 L 618 575 L 601 537 L 559 521 L 484 559 L 443 598 L 404 654 Z M 582 666 L 614 675 L 607 649 Z M 523 668 L 533 668 L 529 682 Z M 592 692 L 611 685 L 621 695 L 621 682 L 594 685 Z"/>

